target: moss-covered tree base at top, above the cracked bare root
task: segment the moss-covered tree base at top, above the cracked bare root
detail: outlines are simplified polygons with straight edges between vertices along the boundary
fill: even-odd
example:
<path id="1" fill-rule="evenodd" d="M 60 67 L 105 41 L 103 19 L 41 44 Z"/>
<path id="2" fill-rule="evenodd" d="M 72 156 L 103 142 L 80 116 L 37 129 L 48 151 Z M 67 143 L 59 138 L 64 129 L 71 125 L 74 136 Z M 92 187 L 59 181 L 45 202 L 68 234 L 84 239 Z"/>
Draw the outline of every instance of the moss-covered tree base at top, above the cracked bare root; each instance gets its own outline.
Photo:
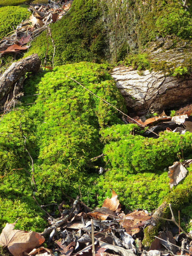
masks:
<path id="1" fill-rule="evenodd" d="M 118 61 L 130 53 L 138 53 L 158 36 L 175 35 L 189 39 L 192 22 L 189 10 L 177 0 L 123 1 L 117 29 Z M 55 63 L 80 60 L 115 59 L 115 27 L 119 4 L 117 1 L 74 0 L 68 14 L 52 24 L 56 45 Z M 168 14 L 168 15 L 167 15 Z M 48 60 L 51 63 L 51 46 Z M 42 60 L 47 49 L 46 31 L 31 45 L 28 54 L 37 52 Z"/>

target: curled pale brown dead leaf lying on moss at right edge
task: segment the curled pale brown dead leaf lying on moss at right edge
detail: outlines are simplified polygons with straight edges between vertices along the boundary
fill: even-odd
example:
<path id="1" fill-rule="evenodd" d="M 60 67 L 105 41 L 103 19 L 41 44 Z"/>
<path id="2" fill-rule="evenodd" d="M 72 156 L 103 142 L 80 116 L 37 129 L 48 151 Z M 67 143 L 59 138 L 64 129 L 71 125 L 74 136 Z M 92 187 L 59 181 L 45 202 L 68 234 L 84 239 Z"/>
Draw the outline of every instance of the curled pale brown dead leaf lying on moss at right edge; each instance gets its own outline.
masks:
<path id="1" fill-rule="evenodd" d="M 192 159 L 185 160 L 182 163 L 175 162 L 172 166 L 169 166 L 169 171 L 167 173 L 168 177 L 170 178 L 169 186 L 170 189 L 173 186 L 176 186 L 183 178 L 185 178 L 188 170 L 185 168 L 188 167 L 192 162 Z"/>

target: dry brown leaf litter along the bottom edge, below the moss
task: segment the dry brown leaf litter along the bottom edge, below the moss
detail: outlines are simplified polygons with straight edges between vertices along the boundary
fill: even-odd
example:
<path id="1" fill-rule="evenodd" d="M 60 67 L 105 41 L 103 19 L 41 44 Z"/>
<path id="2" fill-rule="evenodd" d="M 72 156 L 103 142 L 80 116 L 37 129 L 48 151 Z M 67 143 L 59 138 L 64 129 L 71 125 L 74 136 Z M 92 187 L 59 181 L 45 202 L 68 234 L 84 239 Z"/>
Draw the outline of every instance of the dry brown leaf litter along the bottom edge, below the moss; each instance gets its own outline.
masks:
<path id="1" fill-rule="evenodd" d="M 182 164 L 187 166 L 191 162 L 192 160 L 188 160 Z M 118 195 L 113 190 L 111 192 L 111 198 L 107 197 L 103 206 L 94 211 L 80 202 L 79 196 L 74 200 L 71 209 L 62 209 L 59 206 L 61 217 L 49 217 L 50 227 L 42 234 L 14 230 L 15 223 L 7 223 L 0 236 L 0 245 L 7 246 L 14 256 L 21 256 L 23 252 L 28 256 L 90 256 L 93 244 L 95 256 L 170 256 L 176 253 L 179 255 L 176 244 L 180 246 L 183 239 L 188 245 L 186 248 L 189 248 L 191 240 L 184 233 L 174 237 L 172 232 L 167 230 L 159 232 L 158 238 L 163 240 L 155 238 L 150 251 L 143 250 L 146 249 L 141 243 L 144 228 L 155 225 L 153 214 L 142 209 L 125 214 L 120 208 Z M 86 209 L 91 212 L 85 213 Z M 40 247 L 45 241 L 44 236 L 48 248 Z"/>

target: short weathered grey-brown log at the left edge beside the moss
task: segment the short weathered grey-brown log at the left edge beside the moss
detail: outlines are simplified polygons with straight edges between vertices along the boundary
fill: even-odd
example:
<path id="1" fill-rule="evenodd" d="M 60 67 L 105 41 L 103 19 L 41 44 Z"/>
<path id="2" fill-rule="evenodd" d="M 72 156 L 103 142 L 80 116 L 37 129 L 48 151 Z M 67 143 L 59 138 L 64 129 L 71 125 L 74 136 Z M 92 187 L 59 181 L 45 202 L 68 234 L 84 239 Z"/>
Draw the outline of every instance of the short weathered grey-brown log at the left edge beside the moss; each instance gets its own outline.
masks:
<path id="1" fill-rule="evenodd" d="M 0 106 L 2 106 L 7 98 L 13 97 L 13 90 L 16 88 L 15 94 L 23 88 L 25 74 L 27 72 L 37 72 L 40 68 L 41 61 L 37 54 L 32 54 L 17 62 L 13 62 L 9 68 L 0 77 Z"/>

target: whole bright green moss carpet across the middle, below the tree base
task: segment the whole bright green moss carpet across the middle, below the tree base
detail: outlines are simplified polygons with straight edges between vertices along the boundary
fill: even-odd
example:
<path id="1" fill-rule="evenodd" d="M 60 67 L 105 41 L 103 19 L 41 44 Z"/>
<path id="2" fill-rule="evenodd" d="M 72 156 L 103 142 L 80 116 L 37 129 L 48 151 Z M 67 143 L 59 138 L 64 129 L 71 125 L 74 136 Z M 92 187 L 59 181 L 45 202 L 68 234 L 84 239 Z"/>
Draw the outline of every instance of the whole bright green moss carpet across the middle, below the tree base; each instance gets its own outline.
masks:
<path id="1" fill-rule="evenodd" d="M 144 138 L 137 125 L 123 124 L 115 109 L 66 77 L 78 80 L 126 111 L 107 69 L 107 65 L 80 62 L 56 67 L 52 72 L 41 70 L 27 78 L 21 104 L 0 123 L 1 226 L 20 217 L 16 228 L 45 228 L 44 212 L 33 199 L 31 161 L 23 135 L 34 161 L 35 197 L 40 205 L 67 201 L 66 195 L 75 198 L 79 185 L 86 204 L 89 192 L 91 207 L 102 205 L 110 196 L 110 188 L 128 209 L 153 210 L 167 195 L 171 198 L 174 189 L 169 194 L 164 168 L 178 159 L 181 148 L 184 157 L 190 157 L 192 134 L 183 135 L 182 143 L 179 134 Z M 106 158 L 90 162 L 102 152 Z M 102 175 L 98 174 L 98 166 L 105 166 Z M 185 200 L 191 193 L 191 175 L 189 169 L 188 176 L 177 186 L 181 191 L 188 189 Z M 172 201 L 179 205 L 177 197 L 173 196 Z"/>

